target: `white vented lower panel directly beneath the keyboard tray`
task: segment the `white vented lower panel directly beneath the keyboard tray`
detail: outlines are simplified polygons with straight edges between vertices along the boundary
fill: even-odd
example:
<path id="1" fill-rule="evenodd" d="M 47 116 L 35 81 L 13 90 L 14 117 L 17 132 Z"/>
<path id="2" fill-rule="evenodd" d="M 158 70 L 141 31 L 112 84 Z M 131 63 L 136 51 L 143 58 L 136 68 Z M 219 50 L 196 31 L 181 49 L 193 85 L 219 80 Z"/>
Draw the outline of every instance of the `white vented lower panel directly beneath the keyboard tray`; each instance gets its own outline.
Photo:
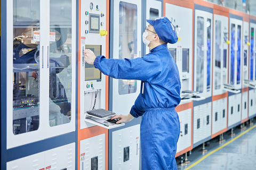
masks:
<path id="1" fill-rule="evenodd" d="M 105 133 L 80 141 L 80 169 L 105 169 Z"/>

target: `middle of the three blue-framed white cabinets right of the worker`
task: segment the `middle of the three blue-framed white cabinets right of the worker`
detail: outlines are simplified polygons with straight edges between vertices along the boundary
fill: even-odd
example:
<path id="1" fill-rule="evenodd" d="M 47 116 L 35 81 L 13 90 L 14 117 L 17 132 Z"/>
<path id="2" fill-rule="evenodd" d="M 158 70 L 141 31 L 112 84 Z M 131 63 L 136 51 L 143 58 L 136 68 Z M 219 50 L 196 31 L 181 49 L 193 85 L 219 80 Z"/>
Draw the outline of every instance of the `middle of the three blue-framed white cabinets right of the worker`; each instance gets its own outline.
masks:
<path id="1" fill-rule="evenodd" d="M 241 122 L 242 102 L 242 39 L 243 17 L 229 14 L 229 90 L 228 97 L 228 129 Z"/>

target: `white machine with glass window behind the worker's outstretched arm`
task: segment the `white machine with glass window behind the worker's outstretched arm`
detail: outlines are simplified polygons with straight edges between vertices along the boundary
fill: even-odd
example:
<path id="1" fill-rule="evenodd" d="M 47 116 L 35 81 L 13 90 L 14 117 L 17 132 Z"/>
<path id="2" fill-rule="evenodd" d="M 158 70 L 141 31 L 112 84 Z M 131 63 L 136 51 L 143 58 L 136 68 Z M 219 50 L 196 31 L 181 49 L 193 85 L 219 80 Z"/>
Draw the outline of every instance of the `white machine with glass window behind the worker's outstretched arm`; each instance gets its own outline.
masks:
<path id="1" fill-rule="evenodd" d="M 143 57 L 141 52 L 142 22 L 144 24 L 146 21 L 142 21 L 142 9 L 144 9 L 142 1 L 111 0 L 110 4 L 112 4 L 110 6 L 110 36 L 113 37 L 109 41 L 110 58 Z M 109 111 L 116 114 L 129 114 L 140 91 L 141 81 L 139 80 L 109 78 Z M 140 143 L 140 122 L 141 117 L 134 118 L 121 128 L 109 130 L 108 169 L 139 168 L 140 144 L 136 145 L 136 143 Z"/>

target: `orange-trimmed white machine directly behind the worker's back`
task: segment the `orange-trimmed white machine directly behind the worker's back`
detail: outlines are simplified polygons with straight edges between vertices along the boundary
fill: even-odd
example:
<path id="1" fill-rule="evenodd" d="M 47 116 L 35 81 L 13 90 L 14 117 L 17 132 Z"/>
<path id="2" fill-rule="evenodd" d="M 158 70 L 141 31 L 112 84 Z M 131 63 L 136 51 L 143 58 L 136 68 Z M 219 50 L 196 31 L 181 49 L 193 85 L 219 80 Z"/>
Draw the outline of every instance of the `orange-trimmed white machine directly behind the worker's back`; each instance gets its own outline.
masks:
<path id="1" fill-rule="evenodd" d="M 186 15 L 188 17 L 183 18 Z M 180 40 L 175 44 L 168 44 L 174 61 L 177 63 L 181 82 L 181 103 L 175 108 L 180 119 L 180 137 L 177 145 L 179 156 L 192 149 L 192 111 L 193 98 L 193 9 L 186 5 L 166 1 L 165 16 L 173 23 L 175 32 Z"/>

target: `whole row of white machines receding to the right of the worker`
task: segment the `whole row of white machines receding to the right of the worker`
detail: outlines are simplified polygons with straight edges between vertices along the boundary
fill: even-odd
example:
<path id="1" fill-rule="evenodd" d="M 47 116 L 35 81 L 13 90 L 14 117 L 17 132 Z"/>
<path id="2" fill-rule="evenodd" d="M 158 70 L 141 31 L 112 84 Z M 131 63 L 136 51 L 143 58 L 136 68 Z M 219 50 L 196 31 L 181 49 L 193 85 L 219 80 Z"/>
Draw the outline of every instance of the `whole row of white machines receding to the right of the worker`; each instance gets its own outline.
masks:
<path id="1" fill-rule="evenodd" d="M 166 0 L 164 9 L 180 38 L 168 45 L 181 80 L 176 156 L 202 143 L 207 151 L 204 142 L 225 141 L 223 132 L 235 135 L 256 114 L 255 18 L 203 1 Z"/>

